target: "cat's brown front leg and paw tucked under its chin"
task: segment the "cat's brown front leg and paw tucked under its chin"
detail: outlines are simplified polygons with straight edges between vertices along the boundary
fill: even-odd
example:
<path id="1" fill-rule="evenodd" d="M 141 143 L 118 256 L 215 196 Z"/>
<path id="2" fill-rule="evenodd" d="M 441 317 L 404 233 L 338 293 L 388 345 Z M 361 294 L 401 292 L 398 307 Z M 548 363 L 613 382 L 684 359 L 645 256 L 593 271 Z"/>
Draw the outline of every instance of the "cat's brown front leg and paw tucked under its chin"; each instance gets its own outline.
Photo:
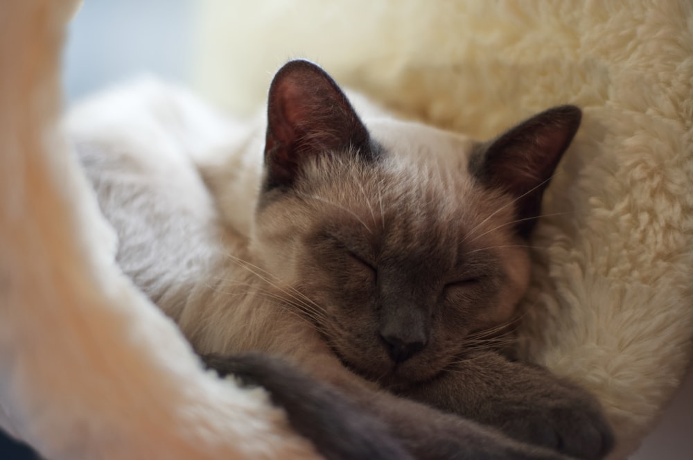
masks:
<path id="1" fill-rule="evenodd" d="M 393 391 L 572 457 L 602 459 L 613 447 L 602 407 L 587 391 L 490 351 L 469 353 L 434 380 Z"/>

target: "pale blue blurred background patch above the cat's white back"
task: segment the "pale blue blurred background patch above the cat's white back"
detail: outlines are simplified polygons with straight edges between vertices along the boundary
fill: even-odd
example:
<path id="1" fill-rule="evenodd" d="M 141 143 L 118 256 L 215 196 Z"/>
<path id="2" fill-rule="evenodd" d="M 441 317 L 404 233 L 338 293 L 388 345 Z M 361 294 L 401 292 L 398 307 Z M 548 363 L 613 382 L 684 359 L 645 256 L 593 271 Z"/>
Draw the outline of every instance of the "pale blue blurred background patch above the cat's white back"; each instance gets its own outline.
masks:
<path id="1" fill-rule="evenodd" d="M 64 85 L 69 103 L 127 78 L 193 78 L 195 0 L 86 0 L 69 29 Z"/>

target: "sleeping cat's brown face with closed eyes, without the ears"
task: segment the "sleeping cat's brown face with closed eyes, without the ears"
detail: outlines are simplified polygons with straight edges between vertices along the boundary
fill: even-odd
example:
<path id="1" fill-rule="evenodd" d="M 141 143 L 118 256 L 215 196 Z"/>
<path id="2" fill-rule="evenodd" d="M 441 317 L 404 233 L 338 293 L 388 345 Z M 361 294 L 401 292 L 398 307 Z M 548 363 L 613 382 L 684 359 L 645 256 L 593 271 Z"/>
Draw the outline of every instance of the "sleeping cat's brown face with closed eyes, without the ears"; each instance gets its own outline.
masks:
<path id="1" fill-rule="evenodd" d="M 430 137 L 418 161 L 383 142 L 373 163 L 313 161 L 258 215 L 265 269 L 310 299 L 290 301 L 369 378 L 429 378 L 468 333 L 509 321 L 527 285 L 511 198 L 471 177 L 468 143 Z M 465 161 L 431 150 L 450 146 Z M 393 357 L 388 340 L 421 349 Z"/>

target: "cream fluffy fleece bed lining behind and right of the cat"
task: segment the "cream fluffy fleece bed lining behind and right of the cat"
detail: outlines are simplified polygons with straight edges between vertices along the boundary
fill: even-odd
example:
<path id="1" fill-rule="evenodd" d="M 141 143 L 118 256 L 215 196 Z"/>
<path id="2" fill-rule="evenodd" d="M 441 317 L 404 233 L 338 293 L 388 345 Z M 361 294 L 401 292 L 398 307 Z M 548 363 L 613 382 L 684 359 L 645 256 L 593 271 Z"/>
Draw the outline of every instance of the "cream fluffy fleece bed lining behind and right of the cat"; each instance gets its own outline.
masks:
<path id="1" fill-rule="evenodd" d="M 308 57 L 480 139 L 551 105 L 584 123 L 547 193 L 520 338 L 601 398 L 632 452 L 693 337 L 693 3 L 208 0 L 200 89 L 236 111 Z"/>

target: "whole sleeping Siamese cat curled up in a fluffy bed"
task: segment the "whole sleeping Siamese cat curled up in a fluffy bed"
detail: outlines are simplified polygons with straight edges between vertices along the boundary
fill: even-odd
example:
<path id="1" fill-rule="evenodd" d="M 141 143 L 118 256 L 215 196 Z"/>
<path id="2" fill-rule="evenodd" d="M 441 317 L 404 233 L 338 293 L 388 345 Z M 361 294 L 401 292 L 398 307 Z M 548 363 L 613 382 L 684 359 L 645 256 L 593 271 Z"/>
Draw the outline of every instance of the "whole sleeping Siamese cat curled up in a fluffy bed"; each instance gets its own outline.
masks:
<path id="1" fill-rule="evenodd" d="M 528 238 L 577 107 L 480 143 L 357 112 L 295 60 L 264 123 L 212 149 L 191 143 L 198 107 L 157 91 L 124 127 L 90 118 L 98 103 L 68 125 L 116 260 L 209 366 L 267 388 L 328 458 L 611 450 L 595 398 L 493 347 L 527 288 Z"/>

